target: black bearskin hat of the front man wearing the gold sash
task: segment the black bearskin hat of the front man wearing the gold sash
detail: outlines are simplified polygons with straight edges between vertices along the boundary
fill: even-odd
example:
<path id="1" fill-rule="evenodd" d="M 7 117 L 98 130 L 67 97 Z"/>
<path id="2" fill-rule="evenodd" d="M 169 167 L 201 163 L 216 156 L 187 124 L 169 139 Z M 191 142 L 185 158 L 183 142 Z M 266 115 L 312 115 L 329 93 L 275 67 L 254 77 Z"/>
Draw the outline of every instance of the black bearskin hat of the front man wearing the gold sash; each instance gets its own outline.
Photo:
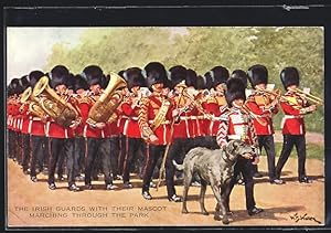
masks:
<path id="1" fill-rule="evenodd" d="M 142 73 L 147 80 L 147 86 L 151 89 L 151 86 L 157 83 L 163 83 L 166 85 L 167 81 L 167 71 L 164 66 L 159 62 L 148 63 Z"/>

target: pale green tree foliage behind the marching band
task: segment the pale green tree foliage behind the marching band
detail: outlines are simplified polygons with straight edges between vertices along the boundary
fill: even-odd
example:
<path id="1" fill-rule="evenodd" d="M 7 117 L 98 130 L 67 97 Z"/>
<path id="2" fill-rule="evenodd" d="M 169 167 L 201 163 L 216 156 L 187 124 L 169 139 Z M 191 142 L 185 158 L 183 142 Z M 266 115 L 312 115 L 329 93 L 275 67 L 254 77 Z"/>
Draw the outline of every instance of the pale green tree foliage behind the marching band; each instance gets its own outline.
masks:
<path id="1" fill-rule="evenodd" d="M 279 73 L 296 66 L 300 87 L 310 87 L 323 98 L 323 29 L 317 27 L 89 28 L 74 47 L 55 44 L 45 70 L 64 64 L 81 73 L 85 66 L 97 64 L 108 73 L 159 61 L 167 68 L 182 64 L 203 75 L 215 65 L 232 72 L 259 63 L 268 68 L 269 83 L 285 93 Z M 307 129 L 323 133 L 323 107 L 307 116 Z M 275 117 L 276 129 L 280 129 L 281 117 L 282 113 Z"/>

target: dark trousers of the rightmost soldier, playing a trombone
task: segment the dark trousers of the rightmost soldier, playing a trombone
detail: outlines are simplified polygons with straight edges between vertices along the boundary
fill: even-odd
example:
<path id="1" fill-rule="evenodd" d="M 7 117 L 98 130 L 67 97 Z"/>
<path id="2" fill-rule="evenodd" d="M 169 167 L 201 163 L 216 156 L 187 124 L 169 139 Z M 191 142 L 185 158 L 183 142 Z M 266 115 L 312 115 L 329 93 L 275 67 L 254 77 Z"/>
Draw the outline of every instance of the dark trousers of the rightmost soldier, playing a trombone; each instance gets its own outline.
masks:
<path id="1" fill-rule="evenodd" d="M 305 135 L 284 135 L 284 142 L 280 157 L 278 159 L 276 166 L 276 176 L 280 178 L 281 169 L 285 166 L 288 157 L 290 156 L 293 146 L 296 146 L 297 153 L 298 153 L 298 174 L 299 180 L 302 177 L 306 177 L 306 137 Z"/>

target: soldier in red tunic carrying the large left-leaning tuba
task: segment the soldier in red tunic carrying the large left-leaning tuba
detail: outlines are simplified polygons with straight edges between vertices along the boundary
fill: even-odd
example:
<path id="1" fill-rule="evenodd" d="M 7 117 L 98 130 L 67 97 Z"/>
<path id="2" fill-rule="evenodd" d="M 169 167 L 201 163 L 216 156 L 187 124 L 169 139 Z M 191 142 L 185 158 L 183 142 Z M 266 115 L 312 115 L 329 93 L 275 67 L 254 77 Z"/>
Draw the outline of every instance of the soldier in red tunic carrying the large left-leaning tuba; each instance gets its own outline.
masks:
<path id="1" fill-rule="evenodd" d="M 67 94 L 67 82 L 70 78 L 68 70 L 63 65 L 56 65 L 52 68 L 51 73 L 51 87 L 55 89 L 60 98 L 64 99 L 65 108 L 73 109 L 74 99 Z M 61 103 L 56 103 L 56 107 L 61 108 Z M 56 109 L 55 107 L 55 109 Z M 58 114 L 58 113 L 56 113 Z M 66 117 L 66 116 L 65 116 Z M 78 117 L 76 115 L 76 117 Z M 67 117 L 66 117 L 67 118 Z M 78 119 L 76 119 L 78 120 Z M 49 117 L 46 123 L 46 135 L 50 137 L 50 165 L 49 165 L 49 189 L 55 190 L 55 169 L 58 159 L 64 156 L 66 158 L 67 182 L 70 191 L 81 191 L 75 183 L 74 177 L 74 128 L 78 121 L 72 121 L 70 127 L 66 127 L 56 121 L 52 116 Z"/>

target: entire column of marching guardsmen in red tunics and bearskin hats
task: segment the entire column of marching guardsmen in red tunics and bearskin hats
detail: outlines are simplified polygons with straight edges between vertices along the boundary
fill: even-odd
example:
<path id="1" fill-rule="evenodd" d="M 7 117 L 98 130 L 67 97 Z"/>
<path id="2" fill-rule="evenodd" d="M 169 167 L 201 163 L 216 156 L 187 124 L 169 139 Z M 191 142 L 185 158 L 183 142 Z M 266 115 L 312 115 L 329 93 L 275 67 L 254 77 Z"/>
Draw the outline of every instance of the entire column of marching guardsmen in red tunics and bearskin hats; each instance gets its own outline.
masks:
<path id="1" fill-rule="evenodd" d="M 217 149 L 241 139 L 256 148 L 252 161 L 239 160 L 235 167 L 246 188 L 249 214 L 261 211 L 255 206 L 253 177 L 257 177 L 263 148 L 270 183 L 285 183 L 281 170 L 293 146 L 299 158 L 298 179 L 311 182 L 305 169 L 303 116 L 317 106 L 297 92 L 300 75 L 296 67 L 280 73 L 285 95 L 267 91 L 268 71 L 259 64 L 231 75 L 226 67 L 215 66 L 200 76 L 182 65 L 167 71 L 163 64 L 151 62 L 143 68 L 130 67 L 118 74 L 126 87 L 114 87 L 121 98 L 111 96 L 109 102 L 118 105 L 110 117 L 99 121 L 90 117 L 90 112 L 103 103 L 115 76 L 105 75 L 97 65 L 89 65 L 77 75 L 56 65 L 49 73 L 33 71 L 11 81 L 7 98 L 8 156 L 22 166 L 31 181 L 38 182 L 38 173 L 44 171 L 49 189 L 55 190 L 57 171 L 61 181 L 66 173 L 68 190 L 75 192 L 82 190 L 77 180 L 84 180 L 84 190 L 90 190 L 93 180 L 103 173 L 106 190 L 118 188 L 114 184 L 116 179 L 122 180 L 124 189 L 131 189 L 131 174 L 136 173 L 142 179 L 142 197 L 151 200 L 152 179 L 164 169 L 168 199 L 180 202 L 172 160 L 181 163 L 194 147 Z M 247 81 L 253 88 L 249 95 L 245 92 Z M 47 92 L 39 92 L 42 88 Z M 50 109 L 41 103 L 49 104 Z M 62 105 L 74 117 L 54 117 Z M 284 146 L 275 166 L 273 117 L 280 107 L 285 113 Z M 235 182 L 236 177 L 232 184 Z"/>

